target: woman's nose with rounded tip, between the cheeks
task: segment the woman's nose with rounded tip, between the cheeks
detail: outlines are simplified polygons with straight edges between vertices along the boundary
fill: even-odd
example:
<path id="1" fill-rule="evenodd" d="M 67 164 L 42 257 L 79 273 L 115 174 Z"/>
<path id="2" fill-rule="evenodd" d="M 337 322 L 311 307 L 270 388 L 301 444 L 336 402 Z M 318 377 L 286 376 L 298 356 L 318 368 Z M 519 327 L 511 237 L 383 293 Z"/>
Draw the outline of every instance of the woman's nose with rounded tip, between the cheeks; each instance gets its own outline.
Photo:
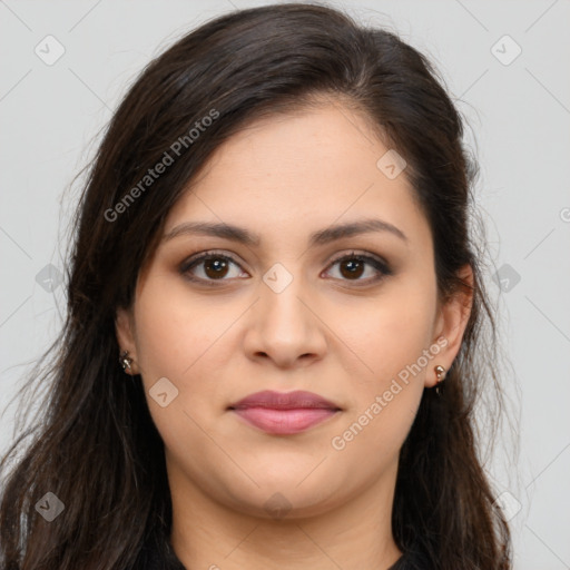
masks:
<path id="1" fill-rule="evenodd" d="M 259 284 L 248 315 L 244 348 L 249 358 L 271 360 L 281 368 L 306 366 L 326 353 L 326 324 L 301 278 L 281 292 Z M 322 313 L 323 311 L 321 311 Z"/>

